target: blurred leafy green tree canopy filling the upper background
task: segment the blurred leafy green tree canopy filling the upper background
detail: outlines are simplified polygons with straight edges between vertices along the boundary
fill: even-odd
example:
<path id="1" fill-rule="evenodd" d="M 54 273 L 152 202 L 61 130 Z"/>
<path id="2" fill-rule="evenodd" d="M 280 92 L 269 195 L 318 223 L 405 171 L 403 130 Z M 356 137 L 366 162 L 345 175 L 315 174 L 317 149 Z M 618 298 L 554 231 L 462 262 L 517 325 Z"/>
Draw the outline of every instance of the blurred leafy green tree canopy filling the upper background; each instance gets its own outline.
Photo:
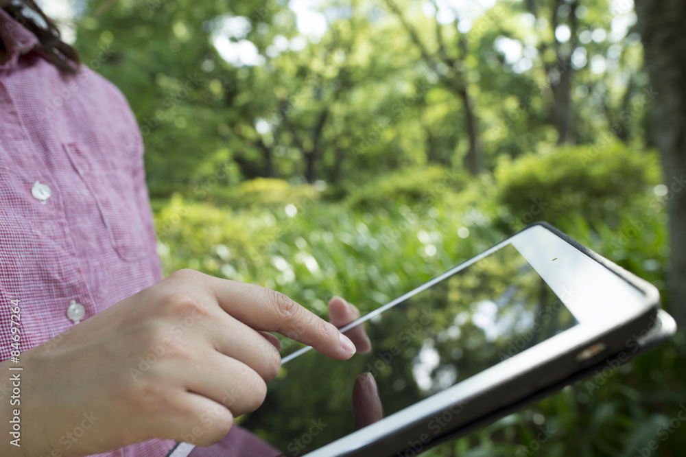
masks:
<path id="1" fill-rule="evenodd" d="M 425 52 L 399 25 L 397 14 L 359 0 L 322 5 L 331 18 L 329 29 L 304 40 L 298 50 L 292 45 L 303 36 L 294 12 L 285 3 L 267 8 L 260 1 L 119 2 L 102 13 L 93 3 L 78 23 L 75 44 L 86 65 L 113 80 L 132 104 L 143 130 L 154 198 L 187 192 L 226 161 L 234 164 L 231 176 L 239 180 L 304 178 L 353 185 L 416 164 L 461 167 L 472 142 L 462 86 L 474 99 L 475 141 L 488 169 L 501 155 L 554 144 L 549 118 L 550 104 L 556 103 L 550 98 L 554 84 L 546 75 L 555 52 L 551 61 L 550 53 L 538 55 L 529 46 L 521 59 L 531 60 L 530 70 L 513 71 L 499 45 L 505 38 L 515 46 L 540 39 L 545 49 L 559 48 L 543 21 L 550 14 L 547 2 L 499 2 L 464 34 L 456 31 L 457 23 L 438 25 L 419 3 L 401 3 L 403 18 Z M 533 27 L 526 8 L 537 4 L 545 17 Z M 610 28 L 611 18 L 602 15 L 606 2 L 584 8 L 589 12 L 579 34 Z M 247 29 L 226 25 L 232 17 L 243 17 Z M 230 43 L 255 45 L 263 63 L 222 59 L 213 42 L 227 35 Z M 607 40 L 576 45 L 589 61 L 611 56 L 616 72 L 596 75 L 589 65 L 573 69 L 577 86 L 570 91 L 587 94 L 571 95 L 565 108 L 580 113 L 574 116 L 574 139 L 641 138 L 650 101 L 641 99 L 645 78 L 636 37 L 627 30 L 612 49 Z M 113 50 L 112 56 L 99 60 L 101 48 Z M 627 73 L 626 89 L 613 84 Z M 234 183 L 233 178 L 224 182 Z"/>

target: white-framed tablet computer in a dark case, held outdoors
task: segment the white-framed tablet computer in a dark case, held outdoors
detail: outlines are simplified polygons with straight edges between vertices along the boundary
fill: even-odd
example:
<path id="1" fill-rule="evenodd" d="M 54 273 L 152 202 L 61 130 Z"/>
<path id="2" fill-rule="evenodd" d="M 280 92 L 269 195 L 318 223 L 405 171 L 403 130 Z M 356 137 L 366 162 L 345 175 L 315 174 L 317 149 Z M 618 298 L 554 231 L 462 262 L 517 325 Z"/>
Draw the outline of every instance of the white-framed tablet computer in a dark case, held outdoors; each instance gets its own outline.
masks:
<path id="1" fill-rule="evenodd" d="M 650 283 L 534 224 L 342 329 L 364 325 L 370 353 L 285 356 L 239 425 L 289 456 L 416 456 L 672 335 L 658 307 Z M 353 430 L 365 372 L 385 417 Z"/>

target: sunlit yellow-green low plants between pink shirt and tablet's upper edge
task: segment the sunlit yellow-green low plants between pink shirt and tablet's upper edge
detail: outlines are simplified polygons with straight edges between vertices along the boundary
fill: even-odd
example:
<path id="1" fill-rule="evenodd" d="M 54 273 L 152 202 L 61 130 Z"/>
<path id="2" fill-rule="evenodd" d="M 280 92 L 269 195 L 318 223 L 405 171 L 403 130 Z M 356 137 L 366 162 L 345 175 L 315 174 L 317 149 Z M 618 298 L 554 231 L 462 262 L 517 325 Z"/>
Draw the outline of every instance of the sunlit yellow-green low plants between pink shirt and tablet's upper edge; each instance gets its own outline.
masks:
<path id="1" fill-rule="evenodd" d="M 370 311 L 499 239 L 466 202 L 436 203 L 415 207 L 424 211 L 420 218 L 403 204 L 370 213 L 326 201 L 272 200 L 231 210 L 177 194 L 156 224 L 167 272 L 195 268 L 276 288 L 324 316 L 330 294 Z M 295 214 L 287 214 L 288 204 Z M 480 237 L 458 236 L 461 227 Z"/>

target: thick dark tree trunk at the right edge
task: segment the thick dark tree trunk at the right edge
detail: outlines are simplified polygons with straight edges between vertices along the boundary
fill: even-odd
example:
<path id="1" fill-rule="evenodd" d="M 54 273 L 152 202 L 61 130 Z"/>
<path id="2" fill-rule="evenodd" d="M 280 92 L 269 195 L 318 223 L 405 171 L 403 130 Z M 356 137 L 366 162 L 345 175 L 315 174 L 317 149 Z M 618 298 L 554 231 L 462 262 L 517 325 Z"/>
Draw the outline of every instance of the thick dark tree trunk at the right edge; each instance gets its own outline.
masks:
<path id="1" fill-rule="evenodd" d="M 668 307 L 686 325 L 686 2 L 636 0 L 654 96 L 652 135 L 662 156 L 670 215 Z M 650 95 L 647 95 L 650 97 Z"/>

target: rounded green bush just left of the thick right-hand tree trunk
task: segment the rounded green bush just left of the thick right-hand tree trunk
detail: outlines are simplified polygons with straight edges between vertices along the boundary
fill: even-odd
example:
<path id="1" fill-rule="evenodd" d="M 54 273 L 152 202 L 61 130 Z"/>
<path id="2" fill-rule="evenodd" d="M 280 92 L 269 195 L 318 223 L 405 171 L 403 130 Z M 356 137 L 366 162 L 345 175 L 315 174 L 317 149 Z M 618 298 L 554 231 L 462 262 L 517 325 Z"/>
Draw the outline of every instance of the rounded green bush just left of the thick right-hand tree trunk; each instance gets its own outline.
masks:
<path id="1" fill-rule="evenodd" d="M 645 206 L 660 169 L 657 154 L 611 143 L 532 152 L 516 161 L 504 156 L 495 179 L 509 211 L 506 222 L 515 229 L 536 220 L 569 225 L 580 213 L 592 226 L 604 222 L 617 229 L 628 213 Z"/>

